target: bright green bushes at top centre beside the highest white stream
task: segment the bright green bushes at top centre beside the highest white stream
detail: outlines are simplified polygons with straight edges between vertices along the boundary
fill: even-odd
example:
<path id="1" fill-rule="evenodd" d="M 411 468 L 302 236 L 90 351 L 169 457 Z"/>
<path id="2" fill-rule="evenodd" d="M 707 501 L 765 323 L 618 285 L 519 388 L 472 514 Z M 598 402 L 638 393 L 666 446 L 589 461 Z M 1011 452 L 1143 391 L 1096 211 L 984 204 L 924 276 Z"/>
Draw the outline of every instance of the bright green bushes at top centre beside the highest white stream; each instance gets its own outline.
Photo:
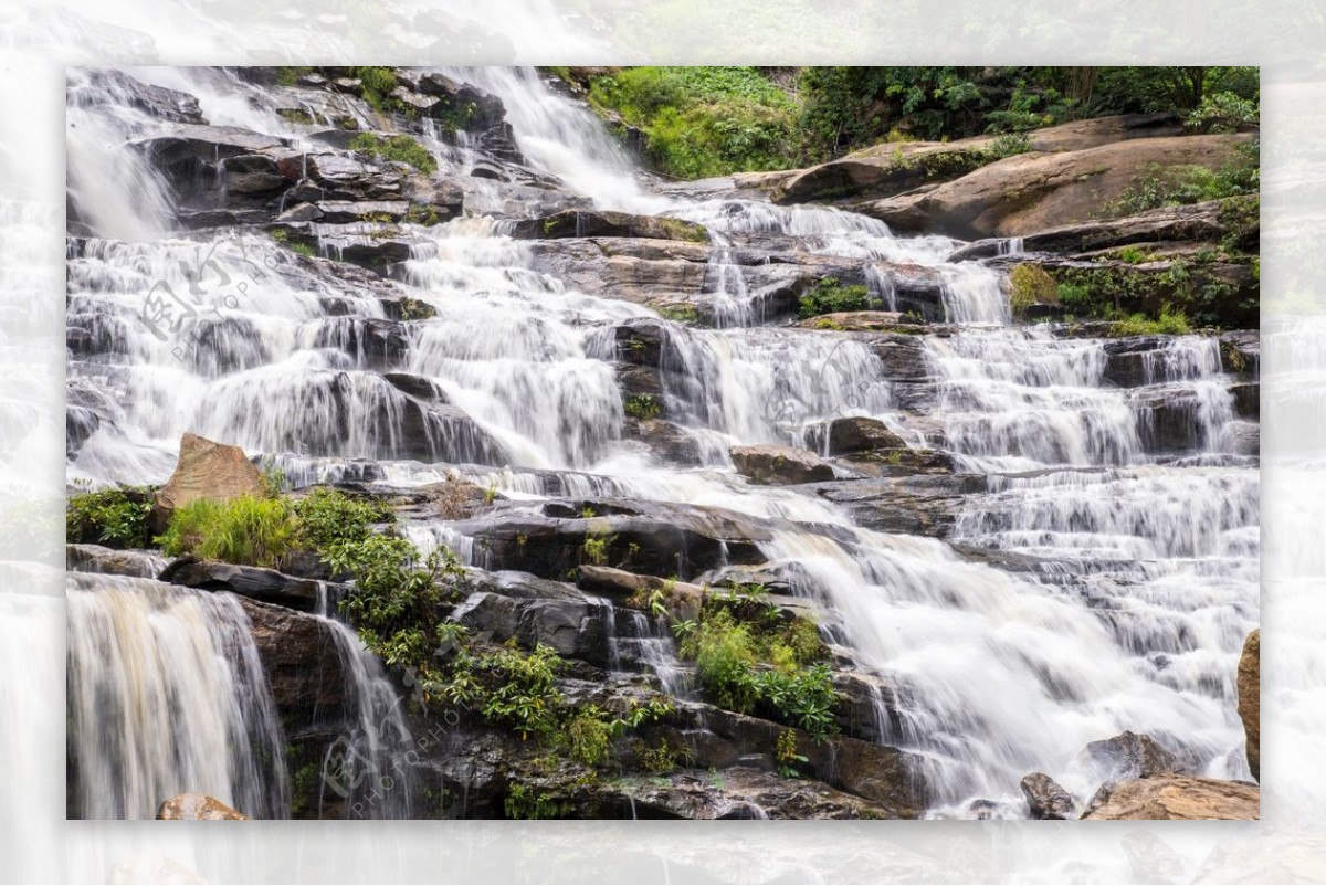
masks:
<path id="1" fill-rule="evenodd" d="M 796 164 L 796 103 L 756 68 L 626 68 L 589 101 L 644 134 L 646 159 L 678 178 Z"/>

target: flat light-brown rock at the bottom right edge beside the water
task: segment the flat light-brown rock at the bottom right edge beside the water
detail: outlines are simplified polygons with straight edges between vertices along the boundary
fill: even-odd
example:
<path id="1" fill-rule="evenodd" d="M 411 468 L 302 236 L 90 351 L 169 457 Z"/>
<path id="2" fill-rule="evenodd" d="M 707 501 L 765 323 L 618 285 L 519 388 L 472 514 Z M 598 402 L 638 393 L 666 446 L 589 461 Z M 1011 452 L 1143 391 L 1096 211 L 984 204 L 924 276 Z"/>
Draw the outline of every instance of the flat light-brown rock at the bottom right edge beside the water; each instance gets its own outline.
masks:
<path id="1" fill-rule="evenodd" d="M 1083 818 L 1107 820 L 1254 820 L 1261 814 L 1256 785 L 1164 775 L 1122 781 L 1102 789 Z"/>

